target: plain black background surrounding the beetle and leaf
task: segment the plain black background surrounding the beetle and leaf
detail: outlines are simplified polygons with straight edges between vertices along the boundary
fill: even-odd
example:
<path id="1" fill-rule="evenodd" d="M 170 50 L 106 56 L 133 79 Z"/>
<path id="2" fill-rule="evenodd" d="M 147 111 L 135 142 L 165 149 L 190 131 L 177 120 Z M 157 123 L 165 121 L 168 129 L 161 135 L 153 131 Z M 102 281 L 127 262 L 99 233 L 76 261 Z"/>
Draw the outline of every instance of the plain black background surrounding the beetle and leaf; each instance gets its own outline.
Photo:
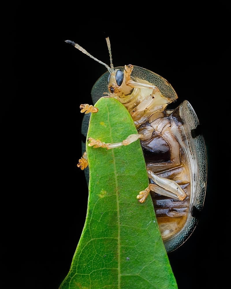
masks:
<path id="1" fill-rule="evenodd" d="M 158 73 L 178 94 L 171 107 L 187 99 L 198 115 L 208 154 L 204 209 L 192 236 L 169 260 L 179 289 L 221 285 L 224 245 L 215 151 L 217 99 L 223 95 L 219 77 L 225 73 L 220 67 L 227 54 L 225 17 L 217 25 L 214 10 L 189 16 L 185 9 L 178 18 L 151 7 L 116 14 L 109 7 L 103 13 L 86 7 L 89 3 L 81 5 L 41 9 L 18 4 L 10 18 L 1 100 L 2 288 L 58 288 L 68 273 L 88 197 L 84 173 L 76 166 L 83 118 L 79 105 L 92 103 L 91 88 L 106 69 L 64 40 L 109 64 L 107 36 L 115 67 L 131 63 Z"/>

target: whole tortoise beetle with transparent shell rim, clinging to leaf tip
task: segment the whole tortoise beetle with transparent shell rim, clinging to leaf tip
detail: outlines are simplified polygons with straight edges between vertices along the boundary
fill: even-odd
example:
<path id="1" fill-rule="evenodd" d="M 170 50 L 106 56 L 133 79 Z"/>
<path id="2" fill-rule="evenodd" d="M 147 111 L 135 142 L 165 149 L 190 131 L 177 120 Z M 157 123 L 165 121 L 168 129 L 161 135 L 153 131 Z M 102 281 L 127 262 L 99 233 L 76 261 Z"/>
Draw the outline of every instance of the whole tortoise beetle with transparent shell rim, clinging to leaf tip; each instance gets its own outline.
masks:
<path id="1" fill-rule="evenodd" d="M 167 105 L 178 96 L 160 75 L 131 64 L 114 68 L 109 38 L 106 40 L 111 67 L 75 42 L 66 42 L 107 67 L 108 71 L 92 88 L 93 103 L 106 94 L 123 103 L 130 112 L 139 134 L 131 142 L 140 138 L 150 180 L 149 187 L 137 198 L 143 202 L 150 192 L 166 251 L 171 252 L 189 238 L 198 222 L 195 213 L 201 211 L 204 204 L 207 160 L 204 138 L 197 134 L 199 121 L 186 100 L 174 110 L 167 109 Z M 97 108 L 88 104 L 80 108 L 85 112 L 82 134 L 86 136 L 89 113 L 97 113 Z M 89 145 L 107 149 L 123 145 L 123 142 L 104 144 L 94 139 L 90 141 Z M 85 168 L 88 180 L 85 144 L 82 147 L 83 157 L 78 166 Z"/>

